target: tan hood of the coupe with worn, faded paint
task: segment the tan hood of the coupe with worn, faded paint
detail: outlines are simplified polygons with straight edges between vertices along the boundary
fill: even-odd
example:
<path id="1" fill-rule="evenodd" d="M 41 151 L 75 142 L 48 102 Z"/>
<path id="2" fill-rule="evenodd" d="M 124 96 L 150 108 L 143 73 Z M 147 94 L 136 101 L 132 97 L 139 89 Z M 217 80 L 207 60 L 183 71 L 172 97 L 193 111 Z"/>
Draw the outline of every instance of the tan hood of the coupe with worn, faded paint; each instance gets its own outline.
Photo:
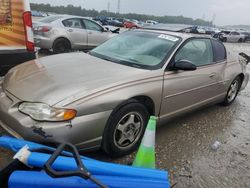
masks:
<path id="1" fill-rule="evenodd" d="M 74 95 L 145 78 L 151 71 L 102 60 L 85 53 L 53 55 L 18 65 L 3 88 L 22 101 L 55 105 Z M 76 100 L 76 99 L 75 99 Z"/>

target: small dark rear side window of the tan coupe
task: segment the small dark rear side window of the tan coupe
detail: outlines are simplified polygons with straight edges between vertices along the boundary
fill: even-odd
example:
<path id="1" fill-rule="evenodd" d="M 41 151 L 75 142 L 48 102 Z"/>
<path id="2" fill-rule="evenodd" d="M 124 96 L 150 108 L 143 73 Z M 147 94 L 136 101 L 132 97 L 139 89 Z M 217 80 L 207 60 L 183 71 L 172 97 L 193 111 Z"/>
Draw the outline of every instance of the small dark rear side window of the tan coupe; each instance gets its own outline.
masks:
<path id="1" fill-rule="evenodd" d="M 212 40 L 214 49 L 214 60 L 215 62 L 224 61 L 227 58 L 226 49 L 224 45 L 216 40 Z"/>

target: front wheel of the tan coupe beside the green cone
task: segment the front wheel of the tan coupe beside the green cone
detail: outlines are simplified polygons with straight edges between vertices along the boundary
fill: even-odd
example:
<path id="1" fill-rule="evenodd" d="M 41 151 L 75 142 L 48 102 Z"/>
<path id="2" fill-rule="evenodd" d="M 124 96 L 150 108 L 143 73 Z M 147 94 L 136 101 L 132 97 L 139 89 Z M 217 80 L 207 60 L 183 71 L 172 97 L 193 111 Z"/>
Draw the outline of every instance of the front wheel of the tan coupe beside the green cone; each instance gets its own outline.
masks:
<path id="1" fill-rule="evenodd" d="M 138 148 L 149 119 L 144 105 L 132 101 L 111 114 L 103 135 L 102 149 L 112 157 Z"/>

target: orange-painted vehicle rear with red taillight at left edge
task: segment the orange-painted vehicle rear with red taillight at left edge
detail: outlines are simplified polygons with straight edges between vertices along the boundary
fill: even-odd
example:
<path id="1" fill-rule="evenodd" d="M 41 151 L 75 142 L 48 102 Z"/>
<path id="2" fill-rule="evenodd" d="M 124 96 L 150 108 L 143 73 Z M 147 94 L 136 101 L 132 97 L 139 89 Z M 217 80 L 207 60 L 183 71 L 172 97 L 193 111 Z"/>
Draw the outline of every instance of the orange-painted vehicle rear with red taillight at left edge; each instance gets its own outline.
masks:
<path id="1" fill-rule="evenodd" d="M 36 58 L 29 1 L 0 1 L 0 76 Z"/>

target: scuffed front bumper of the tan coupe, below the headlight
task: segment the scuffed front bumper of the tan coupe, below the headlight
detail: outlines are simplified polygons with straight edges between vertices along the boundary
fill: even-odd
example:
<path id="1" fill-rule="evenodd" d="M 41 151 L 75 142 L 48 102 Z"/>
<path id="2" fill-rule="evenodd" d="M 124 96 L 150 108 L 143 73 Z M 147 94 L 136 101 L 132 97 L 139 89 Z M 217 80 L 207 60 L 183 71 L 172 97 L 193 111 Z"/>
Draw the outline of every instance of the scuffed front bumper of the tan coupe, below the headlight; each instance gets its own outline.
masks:
<path id="1" fill-rule="evenodd" d="M 68 122 L 38 122 L 18 111 L 20 102 L 0 87 L 0 125 L 12 136 L 40 143 L 71 142 L 81 150 L 100 147 L 111 111 L 76 117 Z"/>

